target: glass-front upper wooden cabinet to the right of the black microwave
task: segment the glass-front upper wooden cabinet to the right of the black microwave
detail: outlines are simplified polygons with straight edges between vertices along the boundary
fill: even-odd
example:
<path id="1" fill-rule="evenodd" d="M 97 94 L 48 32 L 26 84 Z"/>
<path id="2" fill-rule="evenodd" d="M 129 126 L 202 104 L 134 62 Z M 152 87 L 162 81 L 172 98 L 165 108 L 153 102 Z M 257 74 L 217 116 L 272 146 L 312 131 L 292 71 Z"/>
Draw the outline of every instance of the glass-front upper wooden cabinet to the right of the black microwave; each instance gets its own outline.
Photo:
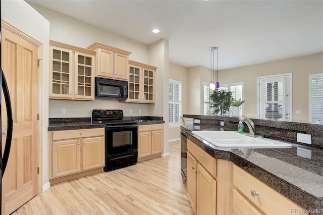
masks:
<path id="1" fill-rule="evenodd" d="M 125 102 L 155 103 L 156 67 L 129 61 L 129 70 L 129 93 Z"/>

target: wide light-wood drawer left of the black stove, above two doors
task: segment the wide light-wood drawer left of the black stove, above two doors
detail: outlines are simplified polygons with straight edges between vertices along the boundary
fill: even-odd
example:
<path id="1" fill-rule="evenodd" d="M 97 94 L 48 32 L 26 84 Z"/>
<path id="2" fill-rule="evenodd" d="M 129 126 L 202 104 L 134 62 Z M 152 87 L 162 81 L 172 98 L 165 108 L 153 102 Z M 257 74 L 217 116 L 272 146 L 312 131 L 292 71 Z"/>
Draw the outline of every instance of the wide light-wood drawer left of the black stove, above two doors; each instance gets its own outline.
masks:
<path id="1" fill-rule="evenodd" d="M 104 128 L 53 131 L 52 140 L 104 136 Z"/>

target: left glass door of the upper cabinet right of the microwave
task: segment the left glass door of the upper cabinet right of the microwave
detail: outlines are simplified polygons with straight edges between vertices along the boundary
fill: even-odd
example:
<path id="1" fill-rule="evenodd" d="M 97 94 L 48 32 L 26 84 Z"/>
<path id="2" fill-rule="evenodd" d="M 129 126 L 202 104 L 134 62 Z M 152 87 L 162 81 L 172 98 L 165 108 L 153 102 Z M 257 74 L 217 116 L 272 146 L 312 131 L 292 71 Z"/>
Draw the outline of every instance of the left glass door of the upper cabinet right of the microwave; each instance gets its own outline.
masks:
<path id="1" fill-rule="evenodd" d="M 129 67 L 129 100 L 141 100 L 141 92 L 140 92 L 140 73 L 141 68 L 130 66 Z"/>

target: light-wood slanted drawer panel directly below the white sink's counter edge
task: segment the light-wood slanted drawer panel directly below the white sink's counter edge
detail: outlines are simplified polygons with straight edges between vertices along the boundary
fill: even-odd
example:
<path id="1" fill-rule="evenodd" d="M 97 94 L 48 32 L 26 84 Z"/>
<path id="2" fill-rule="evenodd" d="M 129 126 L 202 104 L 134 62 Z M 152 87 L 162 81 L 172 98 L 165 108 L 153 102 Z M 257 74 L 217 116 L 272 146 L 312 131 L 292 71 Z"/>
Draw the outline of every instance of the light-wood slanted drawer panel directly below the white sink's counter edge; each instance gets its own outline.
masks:
<path id="1" fill-rule="evenodd" d="M 214 178 L 216 178 L 217 159 L 203 151 L 203 149 L 195 145 L 191 140 L 187 140 L 187 149 L 207 170 L 207 172 L 209 172 Z"/>

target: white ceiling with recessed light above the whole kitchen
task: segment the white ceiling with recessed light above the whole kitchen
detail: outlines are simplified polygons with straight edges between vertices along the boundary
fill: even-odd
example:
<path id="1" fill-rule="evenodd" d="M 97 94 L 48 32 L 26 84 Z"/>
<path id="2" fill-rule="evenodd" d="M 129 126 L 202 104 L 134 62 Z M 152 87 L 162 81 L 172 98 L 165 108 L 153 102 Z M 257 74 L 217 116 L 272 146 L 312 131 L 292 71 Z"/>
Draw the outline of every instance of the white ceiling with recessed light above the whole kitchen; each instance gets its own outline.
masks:
<path id="1" fill-rule="evenodd" d="M 323 52 L 322 0 L 30 2 L 144 44 L 166 38 L 185 67 L 209 68 L 212 46 L 219 70 Z"/>

